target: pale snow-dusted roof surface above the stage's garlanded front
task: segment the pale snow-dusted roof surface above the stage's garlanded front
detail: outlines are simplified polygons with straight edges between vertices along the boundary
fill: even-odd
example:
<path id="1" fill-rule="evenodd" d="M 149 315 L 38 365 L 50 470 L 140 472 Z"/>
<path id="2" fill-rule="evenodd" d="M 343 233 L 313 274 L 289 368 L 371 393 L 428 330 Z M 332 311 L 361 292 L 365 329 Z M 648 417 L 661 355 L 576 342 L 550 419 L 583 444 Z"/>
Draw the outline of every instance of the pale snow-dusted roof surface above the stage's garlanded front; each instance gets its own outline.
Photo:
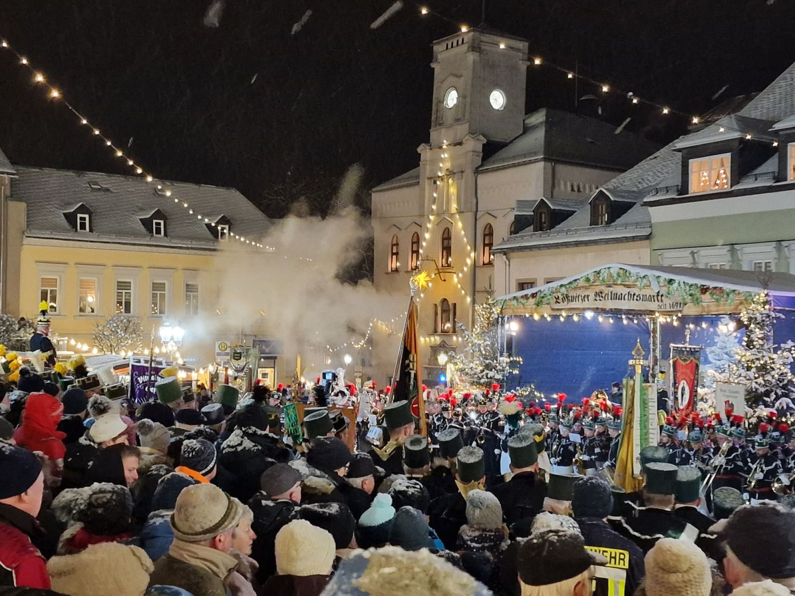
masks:
<path id="1" fill-rule="evenodd" d="M 696 269 L 693 267 L 664 267 L 661 265 L 627 265 L 626 263 L 611 263 L 610 265 L 599 265 L 593 269 L 588 269 L 582 273 L 577 273 L 562 280 L 553 281 L 532 290 L 522 290 L 506 296 L 500 296 L 498 300 L 510 300 L 533 292 L 545 292 L 560 285 L 577 281 L 580 277 L 586 277 L 591 273 L 601 269 L 626 269 L 630 273 L 636 273 L 650 277 L 652 287 L 656 284 L 655 277 L 665 277 L 684 281 L 688 284 L 708 285 L 711 287 L 737 290 L 739 292 L 762 292 L 767 290 L 778 296 L 795 296 L 795 275 L 792 273 L 773 273 L 769 281 L 762 283 L 759 273 L 755 271 L 742 271 L 739 269 Z M 770 275 L 770 273 L 768 273 Z"/>

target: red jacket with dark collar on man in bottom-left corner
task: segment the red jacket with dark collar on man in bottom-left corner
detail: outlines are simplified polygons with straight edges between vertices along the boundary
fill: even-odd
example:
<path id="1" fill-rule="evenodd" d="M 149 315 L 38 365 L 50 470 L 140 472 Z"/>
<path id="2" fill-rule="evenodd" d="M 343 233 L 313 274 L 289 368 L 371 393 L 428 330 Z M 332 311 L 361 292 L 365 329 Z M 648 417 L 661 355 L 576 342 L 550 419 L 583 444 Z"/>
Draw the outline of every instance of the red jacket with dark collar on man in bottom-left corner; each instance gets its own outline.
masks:
<path id="1" fill-rule="evenodd" d="M 0 586 L 25 586 L 49 590 L 47 563 L 28 534 L 36 521 L 10 505 L 0 506 Z"/>

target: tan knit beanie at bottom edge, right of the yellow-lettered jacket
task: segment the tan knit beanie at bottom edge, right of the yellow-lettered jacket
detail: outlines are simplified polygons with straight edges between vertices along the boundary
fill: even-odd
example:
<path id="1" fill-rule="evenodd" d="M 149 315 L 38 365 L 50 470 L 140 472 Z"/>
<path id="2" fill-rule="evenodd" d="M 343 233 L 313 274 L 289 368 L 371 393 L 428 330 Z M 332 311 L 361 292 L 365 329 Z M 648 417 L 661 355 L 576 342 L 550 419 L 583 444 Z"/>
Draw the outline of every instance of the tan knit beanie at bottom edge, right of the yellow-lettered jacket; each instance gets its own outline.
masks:
<path id="1" fill-rule="evenodd" d="M 646 596 L 709 596 L 707 555 L 687 540 L 661 538 L 646 554 Z"/>

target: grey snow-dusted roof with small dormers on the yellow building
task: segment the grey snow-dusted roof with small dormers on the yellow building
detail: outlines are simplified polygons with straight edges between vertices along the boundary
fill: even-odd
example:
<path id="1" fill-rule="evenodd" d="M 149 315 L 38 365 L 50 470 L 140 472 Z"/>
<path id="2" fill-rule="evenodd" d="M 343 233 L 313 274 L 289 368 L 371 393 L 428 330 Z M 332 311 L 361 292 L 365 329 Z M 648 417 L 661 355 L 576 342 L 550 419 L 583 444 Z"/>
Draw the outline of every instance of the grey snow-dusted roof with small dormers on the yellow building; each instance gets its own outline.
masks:
<path id="1" fill-rule="evenodd" d="M 262 238 L 271 225 L 235 188 L 164 180 L 148 183 L 141 177 L 99 172 L 16 169 L 10 199 L 27 203 L 28 236 L 207 250 L 218 247 L 207 226 L 222 215 L 231 221 L 232 232 L 252 240 Z M 76 232 L 64 217 L 80 204 L 91 210 L 91 232 Z M 157 209 L 166 217 L 165 238 L 149 234 L 140 219 Z"/>

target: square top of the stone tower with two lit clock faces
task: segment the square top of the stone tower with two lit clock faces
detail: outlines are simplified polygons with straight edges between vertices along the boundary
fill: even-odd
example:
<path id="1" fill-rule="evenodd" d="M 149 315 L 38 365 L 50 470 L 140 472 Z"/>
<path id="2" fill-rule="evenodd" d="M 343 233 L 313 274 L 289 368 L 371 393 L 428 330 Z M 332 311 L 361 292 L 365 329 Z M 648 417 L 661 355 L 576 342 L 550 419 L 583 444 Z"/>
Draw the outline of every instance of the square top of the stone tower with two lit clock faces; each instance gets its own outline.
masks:
<path id="1" fill-rule="evenodd" d="M 434 42 L 431 145 L 521 134 L 528 64 L 527 41 L 484 27 Z"/>

